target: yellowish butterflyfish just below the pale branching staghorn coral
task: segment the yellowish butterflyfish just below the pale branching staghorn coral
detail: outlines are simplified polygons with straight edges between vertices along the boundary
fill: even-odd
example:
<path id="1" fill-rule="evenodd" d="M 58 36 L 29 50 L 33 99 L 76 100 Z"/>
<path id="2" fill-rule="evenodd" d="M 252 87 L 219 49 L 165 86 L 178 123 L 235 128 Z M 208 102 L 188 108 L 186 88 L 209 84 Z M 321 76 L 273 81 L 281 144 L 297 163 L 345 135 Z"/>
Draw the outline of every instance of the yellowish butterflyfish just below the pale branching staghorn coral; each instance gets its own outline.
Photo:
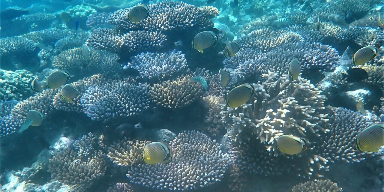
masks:
<path id="1" fill-rule="evenodd" d="M 283 135 L 277 139 L 277 149 L 284 154 L 296 155 L 307 149 L 307 141 L 300 137 Z"/>

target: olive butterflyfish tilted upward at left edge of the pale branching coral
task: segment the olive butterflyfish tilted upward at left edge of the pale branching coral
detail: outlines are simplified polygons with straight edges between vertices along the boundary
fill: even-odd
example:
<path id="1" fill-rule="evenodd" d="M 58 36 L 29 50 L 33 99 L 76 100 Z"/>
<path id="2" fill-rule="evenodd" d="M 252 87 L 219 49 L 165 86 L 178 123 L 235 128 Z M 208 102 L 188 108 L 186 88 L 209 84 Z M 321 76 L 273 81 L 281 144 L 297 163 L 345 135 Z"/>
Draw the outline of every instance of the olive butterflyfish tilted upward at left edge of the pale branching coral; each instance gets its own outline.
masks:
<path id="1" fill-rule="evenodd" d="M 227 94 L 226 105 L 230 108 L 239 107 L 247 103 L 247 101 L 253 96 L 253 93 L 255 93 L 255 87 L 252 84 L 241 84 L 229 91 Z"/>

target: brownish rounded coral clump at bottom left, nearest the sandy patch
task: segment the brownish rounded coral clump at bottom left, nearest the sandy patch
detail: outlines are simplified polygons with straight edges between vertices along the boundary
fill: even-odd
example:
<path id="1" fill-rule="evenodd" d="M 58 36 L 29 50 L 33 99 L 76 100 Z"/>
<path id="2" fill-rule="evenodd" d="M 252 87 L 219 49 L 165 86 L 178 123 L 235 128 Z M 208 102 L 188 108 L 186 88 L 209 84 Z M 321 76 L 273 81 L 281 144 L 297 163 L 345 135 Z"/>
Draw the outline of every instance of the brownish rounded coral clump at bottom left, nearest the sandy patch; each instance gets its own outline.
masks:
<path id="1" fill-rule="evenodd" d="M 86 189 L 104 175 L 105 154 L 99 149 L 94 134 L 89 133 L 68 147 L 53 154 L 49 160 L 51 177 L 64 184 Z M 92 147 L 90 147 L 92 146 Z M 89 149 L 84 154 L 83 149 Z"/>

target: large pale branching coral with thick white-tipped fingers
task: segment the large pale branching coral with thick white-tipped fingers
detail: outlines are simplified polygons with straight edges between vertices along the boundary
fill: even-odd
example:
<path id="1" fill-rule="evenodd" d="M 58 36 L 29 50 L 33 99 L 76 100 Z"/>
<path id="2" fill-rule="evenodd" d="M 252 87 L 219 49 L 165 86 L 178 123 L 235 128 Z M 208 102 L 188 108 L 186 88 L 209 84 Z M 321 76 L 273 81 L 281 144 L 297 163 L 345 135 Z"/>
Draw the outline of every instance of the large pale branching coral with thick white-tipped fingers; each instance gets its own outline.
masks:
<path id="1" fill-rule="evenodd" d="M 277 152 L 274 141 L 283 134 L 319 135 L 327 130 L 328 112 L 325 96 L 309 81 L 299 78 L 288 81 L 270 74 L 255 86 L 255 100 L 238 108 L 224 107 L 222 120 L 229 137 L 240 143 L 260 139 L 270 152 Z M 251 99 L 252 101 L 252 99 Z"/>

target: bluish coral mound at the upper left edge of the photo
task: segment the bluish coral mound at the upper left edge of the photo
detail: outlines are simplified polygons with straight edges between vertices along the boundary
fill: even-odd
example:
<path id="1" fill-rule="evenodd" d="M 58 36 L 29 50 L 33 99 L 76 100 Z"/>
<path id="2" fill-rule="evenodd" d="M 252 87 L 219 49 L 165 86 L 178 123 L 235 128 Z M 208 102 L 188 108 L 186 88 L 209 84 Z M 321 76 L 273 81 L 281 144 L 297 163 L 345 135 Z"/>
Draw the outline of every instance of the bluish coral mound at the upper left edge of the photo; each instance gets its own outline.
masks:
<path id="1" fill-rule="evenodd" d="M 0 38 L 0 57 L 15 53 L 31 53 L 35 50 L 35 45 L 25 37 L 6 37 Z"/>

